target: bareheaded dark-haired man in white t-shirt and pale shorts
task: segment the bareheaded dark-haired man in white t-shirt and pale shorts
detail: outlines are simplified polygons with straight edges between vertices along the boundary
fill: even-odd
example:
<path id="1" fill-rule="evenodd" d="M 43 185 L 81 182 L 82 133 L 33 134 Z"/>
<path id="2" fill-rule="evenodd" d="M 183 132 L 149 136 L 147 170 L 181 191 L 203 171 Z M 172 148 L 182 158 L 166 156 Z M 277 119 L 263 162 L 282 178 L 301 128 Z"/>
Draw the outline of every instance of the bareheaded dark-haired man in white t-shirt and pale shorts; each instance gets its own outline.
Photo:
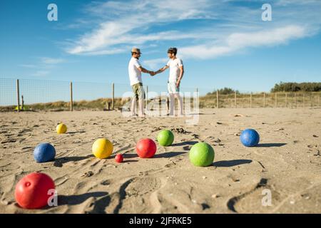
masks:
<path id="1" fill-rule="evenodd" d="M 161 73 L 167 68 L 170 68 L 170 75 L 168 77 L 167 83 L 168 93 L 170 95 L 169 115 L 174 115 L 175 98 L 178 99 L 178 107 L 180 108 L 179 115 L 183 115 L 183 99 L 180 96 L 180 81 L 182 80 L 184 74 L 183 61 L 180 58 L 176 57 L 177 48 L 169 48 L 167 53 L 170 60 L 168 61 L 166 66 L 159 69 L 155 73 L 151 73 L 151 76 L 155 75 L 156 73 Z"/>

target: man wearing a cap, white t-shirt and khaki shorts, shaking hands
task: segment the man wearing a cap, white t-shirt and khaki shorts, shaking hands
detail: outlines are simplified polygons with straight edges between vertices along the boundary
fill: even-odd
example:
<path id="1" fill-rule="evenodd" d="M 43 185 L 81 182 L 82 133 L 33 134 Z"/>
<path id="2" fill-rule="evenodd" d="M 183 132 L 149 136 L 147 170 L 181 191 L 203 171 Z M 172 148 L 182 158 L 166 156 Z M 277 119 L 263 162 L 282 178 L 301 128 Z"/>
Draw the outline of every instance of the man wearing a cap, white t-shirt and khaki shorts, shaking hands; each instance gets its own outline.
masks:
<path id="1" fill-rule="evenodd" d="M 141 72 L 154 75 L 153 71 L 148 71 L 141 66 L 138 59 L 141 57 L 141 50 L 139 48 L 131 49 L 131 61 L 128 64 L 129 81 L 131 81 L 131 88 L 133 88 L 133 99 L 131 101 L 131 115 L 136 116 L 136 100 L 138 100 L 139 116 L 145 117 L 144 114 L 144 88 L 141 80 Z"/>

